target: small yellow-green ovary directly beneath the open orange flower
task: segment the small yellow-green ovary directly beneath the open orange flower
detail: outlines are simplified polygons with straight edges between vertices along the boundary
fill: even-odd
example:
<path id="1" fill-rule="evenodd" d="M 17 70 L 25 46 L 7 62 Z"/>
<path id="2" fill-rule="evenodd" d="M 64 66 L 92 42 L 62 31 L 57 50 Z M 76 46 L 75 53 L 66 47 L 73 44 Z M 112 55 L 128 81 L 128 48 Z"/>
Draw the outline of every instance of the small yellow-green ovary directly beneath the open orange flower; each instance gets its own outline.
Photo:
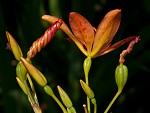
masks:
<path id="1" fill-rule="evenodd" d="M 90 68 L 91 68 L 92 60 L 90 57 L 87 57 L 84 60 L 83 68 L 84 68 L 84 73 L 86 76 L 88 76 Z"/>

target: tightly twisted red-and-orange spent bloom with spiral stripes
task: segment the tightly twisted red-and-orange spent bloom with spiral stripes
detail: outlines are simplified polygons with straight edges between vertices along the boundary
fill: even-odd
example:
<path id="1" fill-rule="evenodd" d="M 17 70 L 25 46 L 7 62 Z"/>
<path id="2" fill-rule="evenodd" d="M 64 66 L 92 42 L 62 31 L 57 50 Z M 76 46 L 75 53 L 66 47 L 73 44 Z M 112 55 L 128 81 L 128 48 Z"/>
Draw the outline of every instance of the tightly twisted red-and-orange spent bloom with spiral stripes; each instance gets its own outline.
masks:
<path id="1" fill-rule="evenodd" d="M 30 50 L 27 53 L 28 58 L 33 58 L 37 52 L 40 52 L 42 48 L 44 48 L 54 37 L 57 30 L 59 30 L 62 24 L 62 20 L 58 19 L 55 23 L 49 27 L 41 38 L 38 38 L 30 47 Z"/>

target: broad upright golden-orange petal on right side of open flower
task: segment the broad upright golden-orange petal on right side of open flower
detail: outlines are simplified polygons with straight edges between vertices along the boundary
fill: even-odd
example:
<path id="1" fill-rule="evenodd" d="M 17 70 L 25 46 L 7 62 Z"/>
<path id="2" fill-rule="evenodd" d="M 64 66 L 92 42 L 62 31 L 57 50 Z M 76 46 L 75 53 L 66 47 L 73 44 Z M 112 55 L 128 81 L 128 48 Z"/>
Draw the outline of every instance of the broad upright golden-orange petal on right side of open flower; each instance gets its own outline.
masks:
<path id="1" fill-rule="evenodd" d="M 103 46 L 107 45 L 112 41 L 116 34 L 121 20 L 121 10 L 115 9 L 108 12 L 101 23 L 95 34 L 95 40 L 93 44 L 93 50 L 91 56 L 93 57 Z"/>

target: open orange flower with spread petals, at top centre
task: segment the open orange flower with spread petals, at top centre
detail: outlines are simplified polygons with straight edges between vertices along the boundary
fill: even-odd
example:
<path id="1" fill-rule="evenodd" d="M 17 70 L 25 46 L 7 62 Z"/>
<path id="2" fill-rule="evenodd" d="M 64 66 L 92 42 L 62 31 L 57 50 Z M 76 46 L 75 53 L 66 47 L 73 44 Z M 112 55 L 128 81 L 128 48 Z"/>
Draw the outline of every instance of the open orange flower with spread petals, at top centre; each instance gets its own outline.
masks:
<path id="1" fill-rule="evenodd" d="M 42 16 L 42 19 L 49 23 L 58 20 L 57 17 L 49 15 Z M 135 39 L 135 36 L 133 36 L 111 45 L 112 39 L 119 28 L 120 21 L 121 10 L 112 10 L 105 15 L 96 30 L 82 15 L 71 12 L 69 15 L 69 23 L 73 33 L 64 22 L 60 28 L 87 57 L 95 58 L 111 52 Z"/>

